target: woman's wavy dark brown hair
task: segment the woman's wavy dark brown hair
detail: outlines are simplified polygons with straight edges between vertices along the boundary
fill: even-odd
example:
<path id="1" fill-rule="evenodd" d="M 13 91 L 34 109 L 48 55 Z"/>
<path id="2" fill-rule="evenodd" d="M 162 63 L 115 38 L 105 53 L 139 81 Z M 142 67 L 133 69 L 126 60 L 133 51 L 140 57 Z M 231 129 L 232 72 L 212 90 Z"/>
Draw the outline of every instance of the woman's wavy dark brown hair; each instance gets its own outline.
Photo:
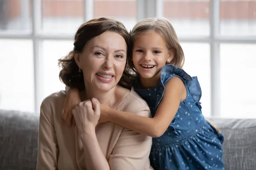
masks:
<path id="1" fill-rule="evenodd" d="M 131 68 L 128 65 L 128 58 L 131 58 L 131 37 L 125 26 L 119 21 L 110 18 L 95 18 L 82 24 L 76 32 L 74 49 L 70 53 L 59 59 L 58 65 L 62 68 L 59 74 L 60 80 L 70 88 L 84 89 L 83 73 L 79 72 L 79 67 L 75 62 L 74 54 L 81 53 L 84 45 L 92 38 L 104 33 L 113 31 L 121 35 L 127 45 L 127 57 L 125 70 L 118 82 L 124 88 L 131 88 Z"/>

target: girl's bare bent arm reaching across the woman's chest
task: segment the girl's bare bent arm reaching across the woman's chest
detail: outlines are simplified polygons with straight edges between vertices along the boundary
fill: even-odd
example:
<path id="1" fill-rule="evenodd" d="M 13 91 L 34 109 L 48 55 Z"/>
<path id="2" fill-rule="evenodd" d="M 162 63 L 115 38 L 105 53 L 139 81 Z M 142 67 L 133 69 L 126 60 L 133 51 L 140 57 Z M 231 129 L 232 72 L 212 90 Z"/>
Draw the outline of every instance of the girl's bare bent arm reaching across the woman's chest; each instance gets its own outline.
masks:
<path id="1" fill-rule="evenodd" d="M 138 116 L 134 113 L 116 111 L 105 107 L 105 109 L 101 109 L 101 113 L 103 112 L 103 114 L 107 115 L 108 121 L 156 138 L 162 136 L 166 131 L 177 113 L 180 101 L 185 98 L 186 88 L 183 81 L 179 77 L 172 77 L 165 85 L 163 98 L 154 118 Z"/>

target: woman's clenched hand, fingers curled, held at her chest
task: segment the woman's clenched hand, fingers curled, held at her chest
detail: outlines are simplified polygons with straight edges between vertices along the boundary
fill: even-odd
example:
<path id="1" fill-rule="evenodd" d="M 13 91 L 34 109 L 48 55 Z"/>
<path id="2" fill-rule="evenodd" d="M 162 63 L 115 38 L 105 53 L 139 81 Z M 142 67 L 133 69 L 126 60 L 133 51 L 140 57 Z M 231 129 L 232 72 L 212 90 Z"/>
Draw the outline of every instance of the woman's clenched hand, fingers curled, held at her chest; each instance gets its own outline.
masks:
<path id="1" fill-rule="evenodd" d="M 80 102 L 72 112 L 79 134 L 95 132 L 100 116 L 100 106 L 97 99 Z"/>

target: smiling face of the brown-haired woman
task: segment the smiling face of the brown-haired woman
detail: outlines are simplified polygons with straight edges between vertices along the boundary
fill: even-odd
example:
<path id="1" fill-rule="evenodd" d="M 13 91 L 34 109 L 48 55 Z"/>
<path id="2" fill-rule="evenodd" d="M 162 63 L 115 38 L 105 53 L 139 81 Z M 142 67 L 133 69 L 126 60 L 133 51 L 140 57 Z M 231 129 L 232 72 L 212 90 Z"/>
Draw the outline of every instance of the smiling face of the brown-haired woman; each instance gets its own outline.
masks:
<path id="1" fill-rule="evenodd" d="M 125 69 L 127 45 L 125 39 L 106 31 L 86 43 L 75 59 L 84 75 L 86 88 L 109 91 L 122 77 Z"/>

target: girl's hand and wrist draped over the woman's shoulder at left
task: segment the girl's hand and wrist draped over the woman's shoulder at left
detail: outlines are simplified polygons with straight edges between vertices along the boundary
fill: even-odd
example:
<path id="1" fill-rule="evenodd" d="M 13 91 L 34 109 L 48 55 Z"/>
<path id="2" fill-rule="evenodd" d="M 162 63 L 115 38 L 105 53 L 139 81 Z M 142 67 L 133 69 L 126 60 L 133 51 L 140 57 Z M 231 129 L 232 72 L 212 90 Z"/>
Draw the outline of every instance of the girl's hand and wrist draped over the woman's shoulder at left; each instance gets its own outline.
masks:
<path id="1" fill-rule="evenodd" d="M 79 90 L 71 88 L 67 91 L 66 99 L 62 110 L 62 118 L 67 122 L 67 125 L 74 127 L 76 125 L 73 118 L 72 110 L 81 102 Z"/>

